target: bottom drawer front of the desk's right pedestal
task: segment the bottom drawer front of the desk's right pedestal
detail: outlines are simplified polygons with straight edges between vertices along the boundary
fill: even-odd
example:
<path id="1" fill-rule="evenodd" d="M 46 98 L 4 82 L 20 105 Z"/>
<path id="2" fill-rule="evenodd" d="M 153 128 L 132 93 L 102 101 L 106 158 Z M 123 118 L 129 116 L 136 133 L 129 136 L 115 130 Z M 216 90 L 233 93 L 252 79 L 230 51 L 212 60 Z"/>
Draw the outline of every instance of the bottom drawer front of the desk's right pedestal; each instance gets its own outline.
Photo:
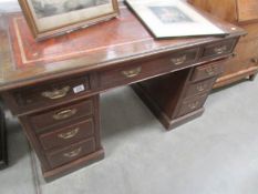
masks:
<path id="1" fill-rule="evenodd" d="M 190 99 L 190 100 L 185 100 L 182 103 L 182 106 L 180 106 L 179 112 L 178 112 L 178 116 L 183 116 L 187 113 L 190 113 L 190 112 L 194 112 L 194 111 L 197 111 L 198 109 L 200 109 L 204 105 L 204 103 L 207 99 L 207 95 L 208 94 L 205 94 L 205 95 L 202 95 L 202 96 L 198 96 L 195 99 Z"/>

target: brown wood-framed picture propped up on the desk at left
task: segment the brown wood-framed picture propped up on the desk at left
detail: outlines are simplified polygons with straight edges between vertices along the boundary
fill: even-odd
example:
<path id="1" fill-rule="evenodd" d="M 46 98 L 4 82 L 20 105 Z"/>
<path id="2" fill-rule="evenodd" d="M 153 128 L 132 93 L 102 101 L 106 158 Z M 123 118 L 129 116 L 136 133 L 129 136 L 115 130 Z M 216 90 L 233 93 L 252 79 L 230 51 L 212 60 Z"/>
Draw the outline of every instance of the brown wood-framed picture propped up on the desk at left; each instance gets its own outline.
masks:
<path id="1" fill-rule="evenodd" d="M 117 0 L 19 0 L 37 40 L 86 28 L 118 14 Z"/>

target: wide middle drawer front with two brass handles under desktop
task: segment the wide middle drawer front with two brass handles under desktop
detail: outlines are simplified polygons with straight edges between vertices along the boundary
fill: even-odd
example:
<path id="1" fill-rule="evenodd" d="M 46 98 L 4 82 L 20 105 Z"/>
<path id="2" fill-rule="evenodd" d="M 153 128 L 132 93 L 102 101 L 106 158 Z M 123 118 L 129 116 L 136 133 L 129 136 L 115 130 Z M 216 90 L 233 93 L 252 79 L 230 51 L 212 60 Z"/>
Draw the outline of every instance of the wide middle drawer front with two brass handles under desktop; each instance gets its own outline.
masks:
<path id="1" fill-rule="evenodd" d="M 101 85 L 102 88 L 106 88 L 107 85 L 126 84 L 158 73 L 166 73 L 175 69 L 184 68 L 197 60 L 198 51 L 198 48 L 188 49 L 157 59 L 132 62 L 121 68 L 102 71 L 100 73 Z"/>

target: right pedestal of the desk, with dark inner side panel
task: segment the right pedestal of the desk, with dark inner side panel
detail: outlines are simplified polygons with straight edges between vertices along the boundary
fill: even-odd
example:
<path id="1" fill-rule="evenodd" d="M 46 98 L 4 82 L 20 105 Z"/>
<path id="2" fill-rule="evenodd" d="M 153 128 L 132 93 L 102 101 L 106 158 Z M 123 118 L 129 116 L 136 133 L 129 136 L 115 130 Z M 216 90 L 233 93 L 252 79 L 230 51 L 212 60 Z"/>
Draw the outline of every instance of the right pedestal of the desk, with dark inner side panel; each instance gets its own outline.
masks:
<path id="1" fill-rule="evenodd" d="M 133 89 L 161 123 L 172 130 L 204 113 L 204 103 L 219 72 L 202 78 L 202 74 L 197 73 L 199 69 L 158 76 L 136 83 Z M 195 78 L 195 74 L 198 74 L 198 78 Z"/>

